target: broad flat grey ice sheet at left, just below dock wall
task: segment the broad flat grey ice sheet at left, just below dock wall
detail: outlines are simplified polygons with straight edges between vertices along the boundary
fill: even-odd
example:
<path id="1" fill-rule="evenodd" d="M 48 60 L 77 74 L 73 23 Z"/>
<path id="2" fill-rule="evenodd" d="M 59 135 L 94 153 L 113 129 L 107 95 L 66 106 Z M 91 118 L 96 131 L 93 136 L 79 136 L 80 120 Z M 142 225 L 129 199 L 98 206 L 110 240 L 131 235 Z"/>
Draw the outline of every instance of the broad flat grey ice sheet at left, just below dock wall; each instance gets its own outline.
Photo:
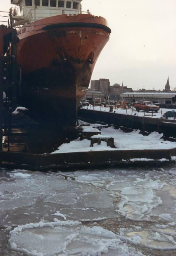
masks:
<path id="1" fill-rule="evenodd" d="M 23 172 L 31 176 L 21 178 L 13 176 L 16 173 L 19 171 L 8 172 L 9 181 L 7 179 L 0 183 L 0 209 L 5 210 L 0 213 L 0 219 L 5 223 L 11 222 L 11 216 L 15 224 L 31 218 L 52 220 L 52 214 L 56 212 L 63 214 L 67 220 L 91 220 L 118 215 L 113 209 L 115 195 L 106 190 L 92 188 L 90 184 L 78 180 L 64 180 L 63 176 L 57 174 Z M 84 177 L 89 181 L 94 178 L 95 183 L 102 181 L 103 184 L 110 178 L 108 172 L 104 174 L 102 172 L 99 175 L 92 174 L 89 178 L 86 175 Z M 4 219 L 6 215 L 8 217 Z M 63 220 L 61 215 L 57 216 Z"/>

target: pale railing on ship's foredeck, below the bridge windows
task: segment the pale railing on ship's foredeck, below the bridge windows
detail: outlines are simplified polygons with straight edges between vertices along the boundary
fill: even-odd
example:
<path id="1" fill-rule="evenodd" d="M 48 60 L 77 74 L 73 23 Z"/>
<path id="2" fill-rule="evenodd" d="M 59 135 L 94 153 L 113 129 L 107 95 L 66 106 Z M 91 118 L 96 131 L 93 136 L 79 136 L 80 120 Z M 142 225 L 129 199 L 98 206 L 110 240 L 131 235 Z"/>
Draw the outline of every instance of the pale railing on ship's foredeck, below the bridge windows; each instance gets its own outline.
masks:
<path id="1" fill-rule="evenodd" d="M 27 19 L 30 21 L 34 20 L 41 20 L 44 18 L 67 14 L 67 15 L 74 15 L 74 14 L 90 14 L 90 12 L 82 12 L 81 10 L 59 10 L 59 9 L 31 9 L 27 15 Z"/>

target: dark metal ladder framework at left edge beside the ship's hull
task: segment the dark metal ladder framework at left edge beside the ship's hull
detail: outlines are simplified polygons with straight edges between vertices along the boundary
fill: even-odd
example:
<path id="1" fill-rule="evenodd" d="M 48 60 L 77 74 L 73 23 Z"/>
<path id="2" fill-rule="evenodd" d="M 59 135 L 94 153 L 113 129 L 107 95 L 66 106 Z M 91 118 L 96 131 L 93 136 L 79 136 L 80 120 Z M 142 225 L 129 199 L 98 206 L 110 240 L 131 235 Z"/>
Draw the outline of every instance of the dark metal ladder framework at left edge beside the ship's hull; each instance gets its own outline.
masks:
<path id="1" fill-rule="evenodd" d="M 8 151 L 10 151 L 10 132 L 12 111 L 17 107 L 19 87 L 17 83 L 17 31 L 0 26 L 0 150 L 3 149 L 3 135 L 8 136 Z M 2 34 L 1 33 L 1 34 Z M 5 98 L 3 97 L 5 92 Z"/>

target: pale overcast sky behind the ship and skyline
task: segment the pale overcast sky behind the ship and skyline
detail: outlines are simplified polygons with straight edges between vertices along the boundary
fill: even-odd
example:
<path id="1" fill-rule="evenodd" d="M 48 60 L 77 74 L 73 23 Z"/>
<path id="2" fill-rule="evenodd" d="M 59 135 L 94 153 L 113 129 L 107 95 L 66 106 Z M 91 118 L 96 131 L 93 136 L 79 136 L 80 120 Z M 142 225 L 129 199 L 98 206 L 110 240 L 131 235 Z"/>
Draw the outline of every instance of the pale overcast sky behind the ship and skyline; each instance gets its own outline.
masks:
<path id="1" fill-rule="evenodd" d="M 10 0 L 0 0 L 0 10 L 9 7 Z M 169 76 L 176 87 L 176 0 L 83 0 L 82 9 L 103 16 L 112 29 L 92 80 L 164 89 Z"/>

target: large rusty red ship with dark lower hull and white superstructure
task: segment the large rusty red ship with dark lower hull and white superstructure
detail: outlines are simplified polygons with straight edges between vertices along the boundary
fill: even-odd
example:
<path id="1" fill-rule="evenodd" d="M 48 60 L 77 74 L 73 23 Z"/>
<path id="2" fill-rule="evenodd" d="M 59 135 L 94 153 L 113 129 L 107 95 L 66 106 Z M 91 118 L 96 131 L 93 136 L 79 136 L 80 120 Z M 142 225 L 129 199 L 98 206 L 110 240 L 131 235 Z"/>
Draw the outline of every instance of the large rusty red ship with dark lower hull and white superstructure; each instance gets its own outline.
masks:
<path id="1" fill-rule="evenodd" d="M 76 124 L 79 102 L 111 33 L 105 18 L 82 11 L 81 1 L 11 0 L 20 39 L 18 103 L 58 125 Z"/>

